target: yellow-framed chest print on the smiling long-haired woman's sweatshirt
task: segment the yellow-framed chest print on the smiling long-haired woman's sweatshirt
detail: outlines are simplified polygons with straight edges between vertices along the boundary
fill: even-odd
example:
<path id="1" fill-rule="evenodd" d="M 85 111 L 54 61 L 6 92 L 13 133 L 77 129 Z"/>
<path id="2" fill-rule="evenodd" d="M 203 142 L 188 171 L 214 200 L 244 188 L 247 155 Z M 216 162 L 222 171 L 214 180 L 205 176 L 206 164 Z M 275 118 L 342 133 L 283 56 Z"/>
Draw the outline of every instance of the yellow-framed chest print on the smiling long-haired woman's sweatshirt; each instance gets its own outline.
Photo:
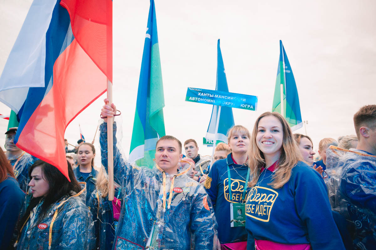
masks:
<path id="1" fill-rule="evenodd" d="M 246 216 L 262 222 L 268 222 L 271 209 L 277 197 L 278 193 L 273 189 L 259 186 L 253 187 L 247 196 Z"/>

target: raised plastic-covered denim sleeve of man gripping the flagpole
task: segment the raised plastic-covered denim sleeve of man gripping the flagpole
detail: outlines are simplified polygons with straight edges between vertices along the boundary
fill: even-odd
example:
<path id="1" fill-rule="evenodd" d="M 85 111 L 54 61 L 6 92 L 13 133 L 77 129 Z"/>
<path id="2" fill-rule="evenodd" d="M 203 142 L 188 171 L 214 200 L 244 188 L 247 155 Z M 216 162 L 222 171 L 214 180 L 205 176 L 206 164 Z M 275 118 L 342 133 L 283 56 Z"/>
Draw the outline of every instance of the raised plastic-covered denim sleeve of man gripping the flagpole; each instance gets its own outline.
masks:
<path id="1" fill-rule="evenodd" d="M 108 172 L 108 151 L 107 151 L 107 123 L 100 124 L 100 153 L 102 157 L 102 165 L 105 167 L 106 172 Z M 116 139 L 116 122 L 113 124 L 113 142 L 114 142 L 114 180 L 120 184 L 124 189 L 127 188 L 127 184 L 133 180 L 133 168 L 129 165 L 121 156 L 119 149 L 117 148 Z"/>

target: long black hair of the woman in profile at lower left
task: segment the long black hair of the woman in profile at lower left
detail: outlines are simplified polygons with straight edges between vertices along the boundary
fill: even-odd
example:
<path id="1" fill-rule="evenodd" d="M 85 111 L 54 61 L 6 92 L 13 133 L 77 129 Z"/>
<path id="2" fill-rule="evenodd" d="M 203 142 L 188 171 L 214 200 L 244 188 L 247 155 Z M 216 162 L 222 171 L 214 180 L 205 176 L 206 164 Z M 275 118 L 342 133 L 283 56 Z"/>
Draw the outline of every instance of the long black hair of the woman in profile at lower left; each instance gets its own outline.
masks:
<path id="1" fill-rule="evenodd" d="M 70 163 L 67 161 L 68 164 L 68 176 L 71 181 L 68 181 L 67 177 L 65 177 L 59 169 L 55 166 L 44 162 L 42 160 L 37 160 L 34 162 L 33 165 L 29 168 L 29 177 L 30 180 L 32 179 L 31 173 L 34 168 L 41 167 L 42 170 L 42 178 L 47 181 L 49 184 L 49 191 L 46 196 L 41 196 L 37 198 L 32 198 L 27 207 L 25 214 L 23 217 L 18 221 L 17 225 L 17 232 L 20 234 L 21 227 L 25 224 L 27 219 L 29 218 L 30 211 L 38 205 L 42 198 L 44 198 L 44 202 L 42 204 L 41 214 L 39 215 L 38 223 L 46 216 L 47 210 L 55 204 L 59 199 L 63 198 L 65 195 L 72 196 L 76 193 L 81 191 L 81 186 L 78 184 L 76 177 L 74 177 L 73 169 Z"/>

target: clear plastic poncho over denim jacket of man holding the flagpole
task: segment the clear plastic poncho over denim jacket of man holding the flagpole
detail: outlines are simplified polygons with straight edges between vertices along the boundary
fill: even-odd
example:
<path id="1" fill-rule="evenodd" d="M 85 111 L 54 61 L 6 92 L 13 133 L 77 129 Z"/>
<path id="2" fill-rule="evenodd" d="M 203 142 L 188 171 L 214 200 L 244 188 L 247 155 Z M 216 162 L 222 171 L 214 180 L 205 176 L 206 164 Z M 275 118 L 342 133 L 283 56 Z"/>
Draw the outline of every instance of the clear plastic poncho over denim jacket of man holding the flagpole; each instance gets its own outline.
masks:
<path id="1" fill-rule="evenodd" d="M 175 178 L 165 174 L 164 199 L 163 173 L 127 163 L 116 145 L 116 130 L 114 123 L 114 180 L 123 188 L 123 199 L 113 249 L 213 249 L 217 222 L 204 187 L 182 174 L 190 164 L 179 163 Z M 106 123 L 100 125 L 100 147 L 107 171 Z"/>

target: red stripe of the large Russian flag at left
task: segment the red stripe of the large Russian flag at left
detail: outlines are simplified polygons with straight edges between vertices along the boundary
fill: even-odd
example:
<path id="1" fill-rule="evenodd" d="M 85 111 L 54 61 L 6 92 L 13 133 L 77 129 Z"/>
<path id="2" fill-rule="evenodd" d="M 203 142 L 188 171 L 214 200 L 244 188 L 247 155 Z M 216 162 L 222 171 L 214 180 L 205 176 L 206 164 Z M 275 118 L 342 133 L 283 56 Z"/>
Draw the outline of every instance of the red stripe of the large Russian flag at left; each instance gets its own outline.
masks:
<path id="1" fill-rule="evenodd" d="M 39 103 L 17 146 L 56 166 L 68 178 L 64 133 L 68 124 L 112 81 L 112 1 L 61 0 L 75 39 L 53 66 L 53 85 Z M 84 93 L 84 94 L 82 94 Z"/>

